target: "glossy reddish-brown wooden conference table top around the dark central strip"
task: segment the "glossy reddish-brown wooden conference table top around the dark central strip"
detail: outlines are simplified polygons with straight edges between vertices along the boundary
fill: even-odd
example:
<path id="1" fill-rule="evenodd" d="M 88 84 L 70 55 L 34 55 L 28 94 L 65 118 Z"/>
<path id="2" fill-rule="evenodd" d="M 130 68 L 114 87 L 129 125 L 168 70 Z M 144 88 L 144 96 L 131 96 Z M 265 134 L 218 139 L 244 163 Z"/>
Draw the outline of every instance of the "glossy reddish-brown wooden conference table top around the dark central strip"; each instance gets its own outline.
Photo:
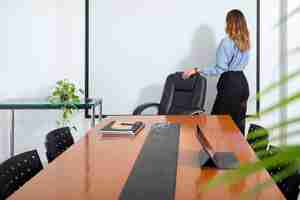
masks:
<path id="1" fill-rule="evenodd" d="M 97 129 L 115 119 L 126 122 L 141 120 L 146 123 L 146 128 L 135 138 L 106 138 L 97 133 Z M 267 171 L 260 171 L 238 184 L 217 186 L 205 193 L 201 192 L 201 185 L 223 174 L 224 171 L 199 167 L 199 150 L 202 147 L 195 135 L 197 124 L 215 151 L 235 152 L 241 163 L 256 160 L 255 153 L 243 139 L 230 117 L 112 117 L 104 119 L 96 126 L 96 129 L 90 129 L 84 138 L 49 164 L 9 199 L 118 199 L 144 145 L 151 124 L 159 122 L 181 125 L 175 199 L 239 199 L 242 192 L 271 179 Z M 274 183 L 254 194 L 250 199 L 276 200 L 284 199 L 284 197 Z"/>

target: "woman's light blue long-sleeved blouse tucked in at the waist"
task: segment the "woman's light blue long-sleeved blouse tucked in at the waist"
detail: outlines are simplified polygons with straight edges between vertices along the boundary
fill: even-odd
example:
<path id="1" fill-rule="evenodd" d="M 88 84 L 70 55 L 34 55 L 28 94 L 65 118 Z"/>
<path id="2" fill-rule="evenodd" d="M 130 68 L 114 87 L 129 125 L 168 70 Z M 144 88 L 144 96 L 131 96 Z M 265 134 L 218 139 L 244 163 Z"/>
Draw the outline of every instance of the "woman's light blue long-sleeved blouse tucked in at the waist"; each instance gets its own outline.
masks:
<path id="1" fill-rule="evenodd" d="M 227 71 L 243 71 L 249 62 L 249 51 L 241 52 L 228 36 L 224 38 L 218 49 L 216 64 L 200 69 L 204 76 L 218 76 Z"/>

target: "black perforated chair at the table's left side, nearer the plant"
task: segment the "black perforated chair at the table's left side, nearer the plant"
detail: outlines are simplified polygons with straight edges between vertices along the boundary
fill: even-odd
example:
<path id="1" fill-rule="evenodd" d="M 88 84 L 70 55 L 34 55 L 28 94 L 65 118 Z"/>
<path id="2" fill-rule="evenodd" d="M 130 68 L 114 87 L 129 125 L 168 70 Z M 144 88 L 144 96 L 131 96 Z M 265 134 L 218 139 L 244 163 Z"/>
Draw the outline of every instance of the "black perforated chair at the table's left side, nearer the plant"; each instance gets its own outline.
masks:
<path id="1" fill-rule="evenodd" d="M 69 127 L 55 129 L 46 136 L 46 156 L 52 162 L 57 156 L 74 144 L 74 139 Z"/>

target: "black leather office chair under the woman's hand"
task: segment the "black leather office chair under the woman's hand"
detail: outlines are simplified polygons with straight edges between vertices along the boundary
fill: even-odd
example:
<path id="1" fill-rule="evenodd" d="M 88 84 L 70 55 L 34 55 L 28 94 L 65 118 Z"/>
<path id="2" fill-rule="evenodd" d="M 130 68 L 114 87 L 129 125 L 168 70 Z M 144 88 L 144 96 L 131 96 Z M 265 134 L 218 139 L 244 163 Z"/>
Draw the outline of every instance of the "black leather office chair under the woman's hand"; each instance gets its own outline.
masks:
<path id="1" fill-rule="evenodd" d="M 204 112 L 206 79 L 200 74 L 184 80 L 182 73 L 168 76 L 160 103 L 146 103 L 138 106 L 133 115 L 141 115 L 150 107 L 158 108 L 158 115 L 184 115 Z"/>

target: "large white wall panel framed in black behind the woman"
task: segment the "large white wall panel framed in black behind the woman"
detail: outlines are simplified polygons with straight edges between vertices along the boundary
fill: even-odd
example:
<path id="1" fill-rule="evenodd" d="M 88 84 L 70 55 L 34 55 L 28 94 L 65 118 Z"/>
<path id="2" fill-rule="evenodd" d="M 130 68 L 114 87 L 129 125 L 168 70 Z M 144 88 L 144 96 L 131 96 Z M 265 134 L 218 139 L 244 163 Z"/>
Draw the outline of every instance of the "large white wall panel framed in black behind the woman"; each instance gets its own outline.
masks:
<path id="1" fill-rule="evenodd" d="M 104 98 L 104 114 L 130 114 L 159 102 L 170 73 L 215 64 L 229 10 L 247 18 L 252 51 L 246 69 L 256 95 L 256 1 L 91 0 L 91 95 Z M 210 112 L 217 78 L 208 78 L 205 109 Z M 256 113 L 256 102 L 249 114 Z"/>

